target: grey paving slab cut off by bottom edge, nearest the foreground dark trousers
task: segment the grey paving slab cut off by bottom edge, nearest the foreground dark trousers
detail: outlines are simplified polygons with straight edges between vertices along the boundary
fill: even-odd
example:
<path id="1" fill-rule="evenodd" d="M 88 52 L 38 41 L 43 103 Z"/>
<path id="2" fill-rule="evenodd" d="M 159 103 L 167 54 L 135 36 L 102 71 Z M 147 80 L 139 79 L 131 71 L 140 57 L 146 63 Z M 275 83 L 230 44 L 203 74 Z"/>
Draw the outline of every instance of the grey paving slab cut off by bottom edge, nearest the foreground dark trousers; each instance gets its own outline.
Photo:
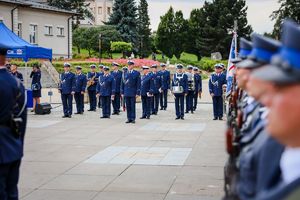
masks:
<path id="1" fill-rule="evenodd" d="M 37 190 L 24 200 L 91 200 L 97 194 L 92 191 Z"/>

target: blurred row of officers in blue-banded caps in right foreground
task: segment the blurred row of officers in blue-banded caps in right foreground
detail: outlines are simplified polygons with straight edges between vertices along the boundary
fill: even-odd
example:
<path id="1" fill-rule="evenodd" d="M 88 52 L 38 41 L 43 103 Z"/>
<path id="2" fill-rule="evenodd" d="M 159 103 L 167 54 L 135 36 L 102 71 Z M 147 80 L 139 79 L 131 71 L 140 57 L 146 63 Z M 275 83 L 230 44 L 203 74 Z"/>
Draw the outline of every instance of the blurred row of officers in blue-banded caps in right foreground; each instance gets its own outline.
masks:
<path id="1" fill-rule="evenodd" d="M 224 199 L 300 199 L 300 26 L 242 38 L 233 62 Z"/>

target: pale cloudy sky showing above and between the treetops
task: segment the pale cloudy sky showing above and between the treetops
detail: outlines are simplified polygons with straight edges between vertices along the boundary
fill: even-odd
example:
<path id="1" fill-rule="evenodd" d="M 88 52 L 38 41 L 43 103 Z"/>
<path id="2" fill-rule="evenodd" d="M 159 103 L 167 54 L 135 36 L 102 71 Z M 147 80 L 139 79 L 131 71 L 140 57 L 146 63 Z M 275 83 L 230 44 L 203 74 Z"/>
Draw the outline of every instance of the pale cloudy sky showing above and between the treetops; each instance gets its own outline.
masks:
<path id="1" fill-rule="evenodd" d="M 204 0 L 148 0 L 149 15 L 152 30 L 157 30 L 160 16 L 164 15 L 170 6 L 182 10 L 184 17 L 189 18 L 194 8 L 201 8 Z M 274 21 L 269 16 L 279 8 L 277 0 L 246 0 L 248 6 L 248 22 L 257 33 L 271 32 Z"/>

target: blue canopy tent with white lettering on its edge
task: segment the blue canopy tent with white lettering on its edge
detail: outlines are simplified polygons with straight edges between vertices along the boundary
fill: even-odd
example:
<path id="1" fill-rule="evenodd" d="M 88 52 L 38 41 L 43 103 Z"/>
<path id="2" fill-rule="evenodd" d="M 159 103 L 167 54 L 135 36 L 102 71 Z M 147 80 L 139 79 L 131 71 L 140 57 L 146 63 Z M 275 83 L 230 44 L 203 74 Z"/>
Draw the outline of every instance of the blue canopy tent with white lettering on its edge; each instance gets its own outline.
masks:
<path id="1" fill-rule="evenodd" d="M 52 60 L 52 49 L 32 45 L 9 30 L 4 23 L 0 22 L 0 48 L 6 48 L 7 58 L 20 58 L 25 61 L 25 69 L 29 59 Z M 27 81 L 27 79 L 25 79 Z M 32 91 L 27 90 L 28 107 L 32 107 Z M 31 98 L 30 98 L 31 97 Z"/>

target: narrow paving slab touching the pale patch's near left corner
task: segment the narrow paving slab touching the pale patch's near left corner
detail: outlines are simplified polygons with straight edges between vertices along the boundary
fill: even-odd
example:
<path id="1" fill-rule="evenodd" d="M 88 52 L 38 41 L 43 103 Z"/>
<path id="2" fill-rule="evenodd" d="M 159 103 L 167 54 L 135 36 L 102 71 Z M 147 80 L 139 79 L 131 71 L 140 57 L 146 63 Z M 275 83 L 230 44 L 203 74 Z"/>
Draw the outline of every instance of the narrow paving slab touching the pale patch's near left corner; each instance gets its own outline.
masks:
<path id="1" fill-rule="evenodd" d="M 91 176 L 119 176 L 127 168 L 128 165 L 81 163 L 67 171 L 65 174 Z"/>

